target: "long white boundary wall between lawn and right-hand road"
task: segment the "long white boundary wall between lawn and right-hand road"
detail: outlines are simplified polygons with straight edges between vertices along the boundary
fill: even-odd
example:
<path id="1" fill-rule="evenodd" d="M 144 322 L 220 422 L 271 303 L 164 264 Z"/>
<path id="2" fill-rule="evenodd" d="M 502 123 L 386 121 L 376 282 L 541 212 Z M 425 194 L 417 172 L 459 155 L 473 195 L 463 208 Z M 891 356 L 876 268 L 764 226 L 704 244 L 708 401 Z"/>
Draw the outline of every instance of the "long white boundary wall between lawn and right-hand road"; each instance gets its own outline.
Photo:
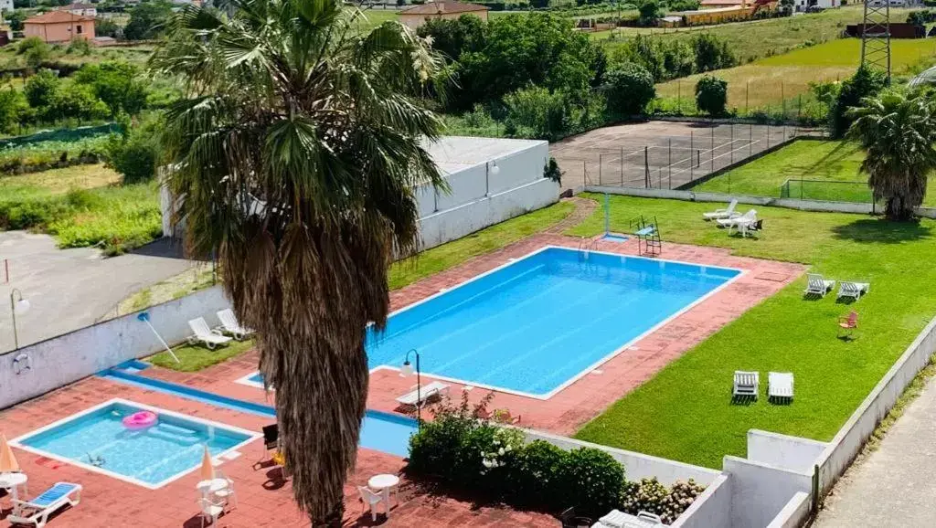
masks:
<path id="1" fill-rule="evenodd" d="M 826 496 L 836 480 L 841 477 L 855 459 L 858 451 L 868 441 L 871 433 L 893 408 L 903 390 L 910 385 L 914 377 L 929 363 L 930 356 L 936 351 L 936 319 L 916 336 L 894 366 L 884 378 L 871 390 L 867 398 L 845 422 L 835 438 L 820 455 L 819 493 Z"/>

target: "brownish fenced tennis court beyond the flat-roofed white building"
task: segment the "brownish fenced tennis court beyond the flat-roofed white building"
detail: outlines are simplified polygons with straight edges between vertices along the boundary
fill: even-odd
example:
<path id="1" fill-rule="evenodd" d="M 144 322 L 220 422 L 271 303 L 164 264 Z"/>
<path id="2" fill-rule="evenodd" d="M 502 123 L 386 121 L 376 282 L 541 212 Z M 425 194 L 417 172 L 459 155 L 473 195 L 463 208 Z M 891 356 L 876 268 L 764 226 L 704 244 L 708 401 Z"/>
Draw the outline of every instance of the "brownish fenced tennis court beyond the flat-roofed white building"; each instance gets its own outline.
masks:
<path id="1" fill-rule="evenodd" d="M 563 188 L 677 188 L 809 130 L 783 125 L 648 121 L 606 126 L 552 143 Z"/>

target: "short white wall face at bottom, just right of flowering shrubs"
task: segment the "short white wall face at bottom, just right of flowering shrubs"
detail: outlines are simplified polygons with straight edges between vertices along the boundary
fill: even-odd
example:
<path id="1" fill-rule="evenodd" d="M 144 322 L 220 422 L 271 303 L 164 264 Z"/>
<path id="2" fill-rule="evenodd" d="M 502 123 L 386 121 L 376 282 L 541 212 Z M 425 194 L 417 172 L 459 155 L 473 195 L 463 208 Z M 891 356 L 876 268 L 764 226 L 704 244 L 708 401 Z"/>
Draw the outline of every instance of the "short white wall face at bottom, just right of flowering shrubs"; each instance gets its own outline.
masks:
<path id="1" fill-rule="evenodd" d="M 812 474 L 724 457 L 724 473 L 731 476 L 731 525 L 764 528 L 797 492 L 812 489 Z"/>

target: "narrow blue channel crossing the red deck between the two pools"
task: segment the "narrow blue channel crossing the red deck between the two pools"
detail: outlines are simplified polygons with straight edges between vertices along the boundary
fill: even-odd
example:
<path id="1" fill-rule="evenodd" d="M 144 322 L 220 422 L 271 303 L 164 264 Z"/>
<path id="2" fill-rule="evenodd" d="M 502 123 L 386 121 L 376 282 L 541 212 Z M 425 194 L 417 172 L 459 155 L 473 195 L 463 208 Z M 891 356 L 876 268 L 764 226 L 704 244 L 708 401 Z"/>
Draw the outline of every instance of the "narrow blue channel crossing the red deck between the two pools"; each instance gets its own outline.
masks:
<path id="1" fill-rule="evenodd" d="M 276 410 L 271 405 L 228 398 L 207 390 L 193 389 L 160 379 L 128 374 L 119 369 L 110 369 L 100 375 L 113 381 L 135 385 L 141 389 L 157 390 L 187 400 L 209 403 L 257 416 L 276 418 Z M 398 457 L 406 457 L 409 456 L 409 438 L 416 432 L 417 422 L 415 419 L 368 409 L 361 423 L 360 446 Z"/>

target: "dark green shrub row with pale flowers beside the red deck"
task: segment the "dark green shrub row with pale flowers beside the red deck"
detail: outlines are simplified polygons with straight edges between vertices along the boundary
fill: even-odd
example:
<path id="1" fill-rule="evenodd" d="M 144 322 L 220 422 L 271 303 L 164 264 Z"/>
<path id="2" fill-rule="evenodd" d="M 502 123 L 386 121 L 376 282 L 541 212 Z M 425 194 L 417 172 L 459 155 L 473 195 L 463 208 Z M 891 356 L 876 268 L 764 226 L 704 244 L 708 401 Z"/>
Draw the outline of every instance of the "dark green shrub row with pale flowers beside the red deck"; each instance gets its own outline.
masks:
<path id="1" fill-rule="evenodd" d="M 702 491 L 693 481 L 672 490 L 655 478 L 627 482 L 622 465 L 600 449 L 524 444 L 520 430 L 480 418 L 490 416 L 492 396 L 471 405 L 463 393 L 461 403 L 446 400 L 433 409 L 432 421 L 410 439 L 407 473 L 481 499 L 554 514 L 575 506 L 595 518 L 618 508 L 651 511 L 672 522 Z"/>

